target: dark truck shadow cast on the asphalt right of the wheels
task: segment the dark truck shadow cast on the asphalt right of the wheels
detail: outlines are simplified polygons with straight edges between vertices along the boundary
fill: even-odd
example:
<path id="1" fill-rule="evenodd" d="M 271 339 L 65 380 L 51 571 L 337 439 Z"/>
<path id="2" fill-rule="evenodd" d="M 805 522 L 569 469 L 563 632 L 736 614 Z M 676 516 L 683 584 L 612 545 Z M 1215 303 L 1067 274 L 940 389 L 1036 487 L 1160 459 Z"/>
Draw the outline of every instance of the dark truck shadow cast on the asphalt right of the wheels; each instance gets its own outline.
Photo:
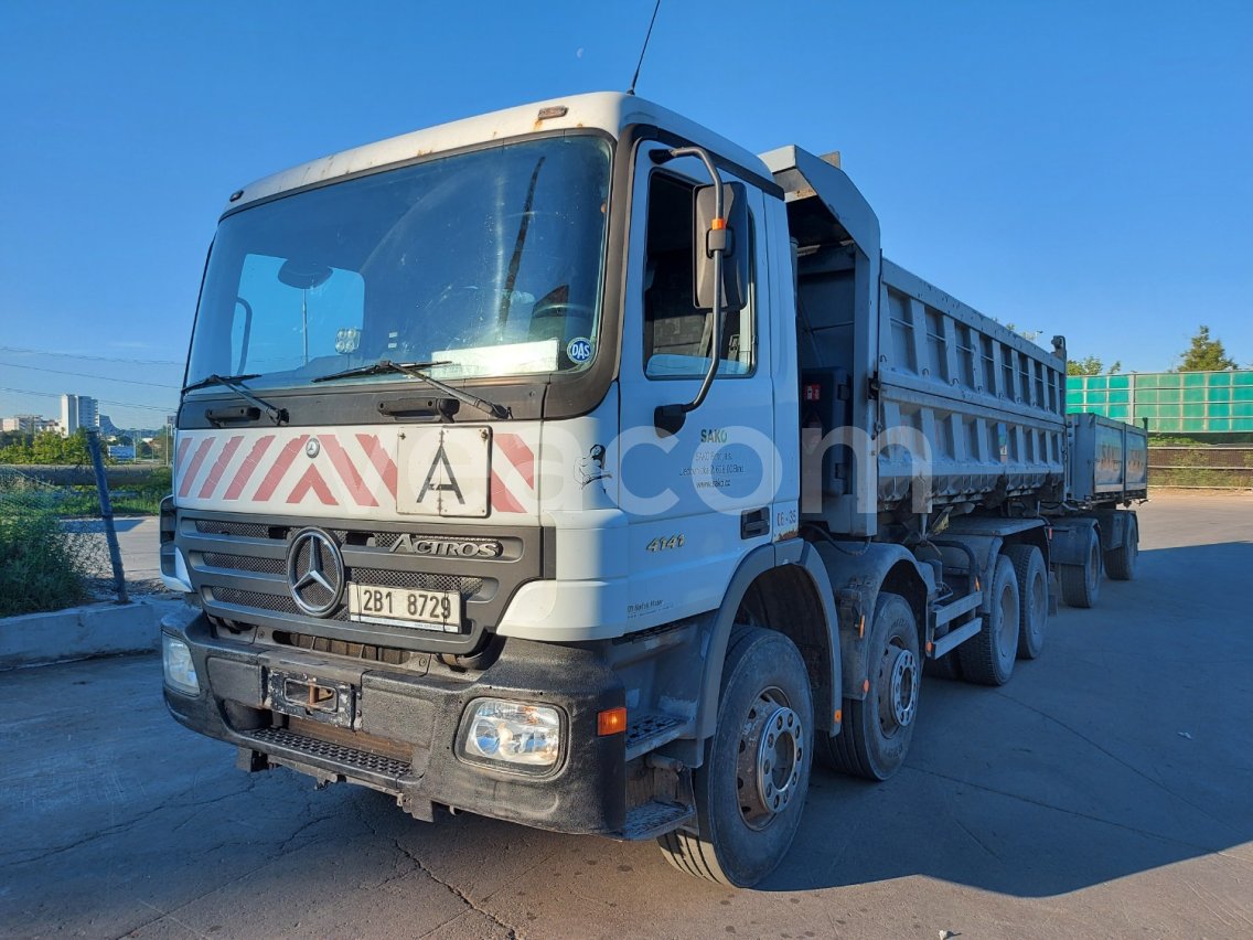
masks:
<path id="1" fill-rule="evenodd" d="M 762 887 L 927 875 L 1048 896 L 1253 841 L 1250 570 L 1249 543 L 1144 551 L 1005 687 L 927 678 L 901 773 L 816 768 Z"/>

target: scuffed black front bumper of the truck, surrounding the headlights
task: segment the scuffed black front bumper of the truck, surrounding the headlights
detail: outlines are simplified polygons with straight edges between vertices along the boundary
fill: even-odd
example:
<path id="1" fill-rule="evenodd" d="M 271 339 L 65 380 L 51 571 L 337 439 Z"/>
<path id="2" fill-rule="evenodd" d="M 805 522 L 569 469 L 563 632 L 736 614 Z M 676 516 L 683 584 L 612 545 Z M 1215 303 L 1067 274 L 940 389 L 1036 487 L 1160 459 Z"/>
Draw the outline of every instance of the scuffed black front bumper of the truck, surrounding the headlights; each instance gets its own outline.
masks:
<path id="1" fill-rule="evenodd" d="M 188 644 L 200 682 L 197 696 L 167 686 L 169 711 L 192 731 L 237 744 L 252 770 L 286 765 L 363 783 L 393 793 L 422 818 L 432 805 L 444 805 L 560 832 L 623 830 L 624 736 L 598 736 L 596 716 L 621 707 L 624 692 L 595 649 L 510 639 L 491 667 L 466 681 L 232 642 L 214 637 L 207 618 L 190 609 L 167 618 L 162 629 Z M 343 689 L 351 727 L 320 722 L 315 712 L 293 719 L 273 711 L 272 673 Z M 484 697 L 559 709 L 563 747 L 551 771 L 510 772 L 457 756 L 462 716 Z"/>

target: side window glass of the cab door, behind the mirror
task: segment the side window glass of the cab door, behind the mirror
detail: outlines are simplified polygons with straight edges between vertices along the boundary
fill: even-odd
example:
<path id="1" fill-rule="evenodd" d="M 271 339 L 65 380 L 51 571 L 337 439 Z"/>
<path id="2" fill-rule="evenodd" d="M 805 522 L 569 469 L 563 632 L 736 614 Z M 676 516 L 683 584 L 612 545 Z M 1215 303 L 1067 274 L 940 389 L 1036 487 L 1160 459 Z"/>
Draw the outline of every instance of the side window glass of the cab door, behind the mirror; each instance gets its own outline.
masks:
<path id="1" fill-rule="evenodd" d="M 649 379 L 700 377 L 709 367 L 713 313 L 693 301 L 692 208 L 695 187 L 657 172 L 649 184 L 644 249 L 644 371 Z M 752 234 L 747 244 L 752 257 Z M 753 288 L 723 323 L 719 376 L 753 371 Z"/>

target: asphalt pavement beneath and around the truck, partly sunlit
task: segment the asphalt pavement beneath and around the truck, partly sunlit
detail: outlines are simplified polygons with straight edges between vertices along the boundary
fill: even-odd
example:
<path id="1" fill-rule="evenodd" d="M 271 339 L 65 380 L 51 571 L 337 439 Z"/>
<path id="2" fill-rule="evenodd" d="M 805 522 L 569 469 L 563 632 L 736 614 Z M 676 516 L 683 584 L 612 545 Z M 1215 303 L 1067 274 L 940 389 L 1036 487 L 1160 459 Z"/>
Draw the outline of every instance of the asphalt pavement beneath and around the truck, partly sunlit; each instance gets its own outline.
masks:
<path id="1" fill-rule="evenodd" d="M 754 891 L 652 843 L 244 775 L 154 657 L 0 673 L 0 934 L 1253 935 L 1253 498 L 1141 510 L 1139 579 L 1002 689 L 927 679 L 905 770 L 816 771 Z"/>

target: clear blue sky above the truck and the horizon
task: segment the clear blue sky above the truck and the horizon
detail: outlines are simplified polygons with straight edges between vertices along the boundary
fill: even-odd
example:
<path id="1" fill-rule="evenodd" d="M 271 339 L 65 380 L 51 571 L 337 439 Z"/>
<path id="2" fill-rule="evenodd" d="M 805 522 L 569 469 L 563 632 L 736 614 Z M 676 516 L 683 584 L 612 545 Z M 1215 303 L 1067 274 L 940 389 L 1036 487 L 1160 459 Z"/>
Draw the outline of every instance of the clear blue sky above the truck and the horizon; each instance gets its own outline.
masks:
<path id="1" fill-rule="evenodd" d="M 74 391 L 159 424 L 233 189 L 625 88 L 652 6 L 5 0 L 0 415 Z M 1250 49 L 1235 0 L 663 0 L 638 91 L 756 152 L 841 150 L 888 257 L 1074 355 L 1168 368 L 1208 323 L 1247 366 Z"/>

